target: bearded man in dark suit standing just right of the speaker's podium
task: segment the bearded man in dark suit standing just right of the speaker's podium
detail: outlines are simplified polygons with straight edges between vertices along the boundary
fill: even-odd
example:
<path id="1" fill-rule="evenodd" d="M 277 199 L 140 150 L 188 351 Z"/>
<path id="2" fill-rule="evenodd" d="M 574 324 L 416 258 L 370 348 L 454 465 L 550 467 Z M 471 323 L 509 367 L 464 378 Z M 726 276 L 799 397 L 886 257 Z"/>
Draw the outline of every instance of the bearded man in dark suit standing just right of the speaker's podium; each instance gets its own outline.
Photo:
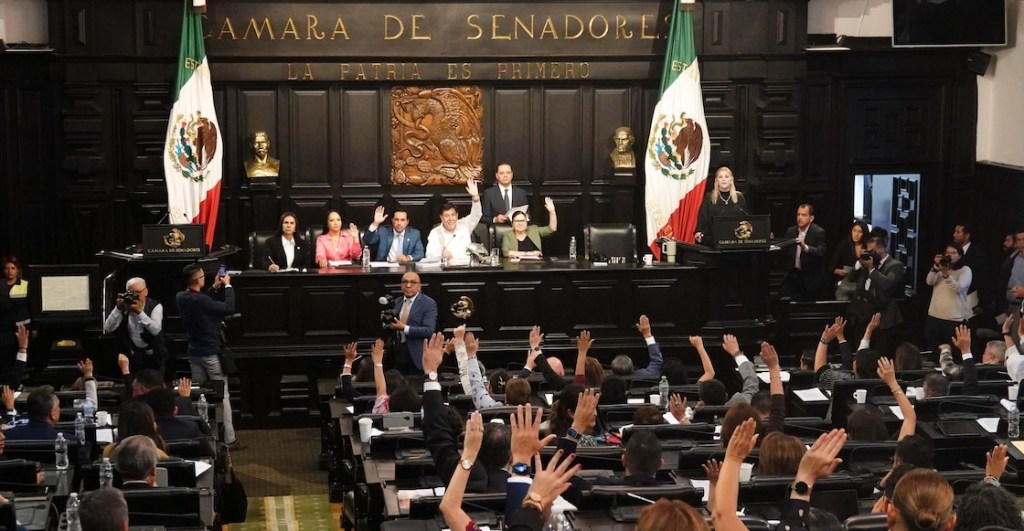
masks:
<path id="1" fill-rule="evenodd" d="M 814 207 L 797 208 L 797 224 L 785 231 L 785 240 L 796 245 L 783 255 L 788 271 L 782 280 L 782 296 L 797 301 L 813 301 L 825 282 L 825 229 L 814 224 Z"/>

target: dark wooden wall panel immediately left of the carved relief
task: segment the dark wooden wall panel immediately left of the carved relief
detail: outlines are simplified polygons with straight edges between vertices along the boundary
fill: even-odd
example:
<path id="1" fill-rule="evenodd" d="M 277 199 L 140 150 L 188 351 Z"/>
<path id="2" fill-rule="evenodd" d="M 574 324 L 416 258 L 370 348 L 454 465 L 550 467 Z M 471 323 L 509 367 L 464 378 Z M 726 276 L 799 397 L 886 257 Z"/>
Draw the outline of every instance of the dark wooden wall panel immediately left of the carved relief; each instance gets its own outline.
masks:
<path id="1" fill-rule="evenodd" d="M 341 96 L 341 181 L 345 186 L 370 186 L 390 182 L 391 147 L 382 138 L 389 138 L 390 110 L 382 115 L 378 90 L 344 90 Z M 390 101 L 386 97 L 385 101 Z M 332 177 L 332 184 L 337 185 Z"/>

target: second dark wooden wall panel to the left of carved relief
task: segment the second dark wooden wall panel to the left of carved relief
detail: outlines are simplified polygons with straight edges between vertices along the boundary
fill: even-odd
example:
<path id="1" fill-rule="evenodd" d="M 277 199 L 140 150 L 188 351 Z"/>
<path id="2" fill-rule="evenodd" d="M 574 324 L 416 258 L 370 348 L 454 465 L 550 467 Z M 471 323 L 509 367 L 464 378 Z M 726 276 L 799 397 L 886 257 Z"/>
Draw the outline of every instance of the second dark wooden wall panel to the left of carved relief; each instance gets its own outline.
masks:
<path id="1" fill-rule="evenodd" d="M 329 92 L 294 90 L 289 94 L 289 159 L 294 189 L 330 188 L 337 182 L 331 164 Z"/>

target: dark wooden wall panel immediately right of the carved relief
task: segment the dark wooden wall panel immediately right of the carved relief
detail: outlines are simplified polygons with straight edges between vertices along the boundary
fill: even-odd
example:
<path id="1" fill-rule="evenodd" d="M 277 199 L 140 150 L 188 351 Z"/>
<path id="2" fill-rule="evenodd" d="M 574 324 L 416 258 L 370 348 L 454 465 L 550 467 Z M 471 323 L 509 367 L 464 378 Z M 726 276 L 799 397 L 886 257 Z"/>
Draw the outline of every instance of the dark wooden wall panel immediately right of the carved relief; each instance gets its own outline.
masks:
<path id="1" fill-rule="evenodd" d="M 537 175 L 534 167 L 534 152 L 526 149 L 525 139 L 531 138 L 530 129 L 532 112 L 530 92 L 525 88 L 494 88 L 492 90 L 494 109 L 483 109 L 490 120 L 492 130 L 483 139 L 484 153 L 494 153 L 489 167 L 484 156 L 483 182 L 493 183 L 498 165 L 512 165 L 513 183 L 523 183 L 528 180 L 534 184 L 544 181 L 544 174 Z M 516 175 L 518 174 L 518 175 Z"/>

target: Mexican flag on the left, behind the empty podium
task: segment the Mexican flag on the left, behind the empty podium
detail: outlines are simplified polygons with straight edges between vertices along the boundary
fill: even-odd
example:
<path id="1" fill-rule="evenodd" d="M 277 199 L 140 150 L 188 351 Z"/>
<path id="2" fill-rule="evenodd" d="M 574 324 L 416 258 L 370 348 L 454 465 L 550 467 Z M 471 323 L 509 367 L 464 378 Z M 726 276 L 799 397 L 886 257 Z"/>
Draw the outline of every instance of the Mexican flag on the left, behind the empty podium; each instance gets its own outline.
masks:
<path id="1" fill-rule="evenodd" d="M 206 245 L 213 245 L 220 203 L 220 126 L 213 108 L 210 64 L 203 44 L 203 19 L 184 0 L 181 49 L 174 106 L 167 124 L 167 210 L 171 223 L 206 224 Z"/>

